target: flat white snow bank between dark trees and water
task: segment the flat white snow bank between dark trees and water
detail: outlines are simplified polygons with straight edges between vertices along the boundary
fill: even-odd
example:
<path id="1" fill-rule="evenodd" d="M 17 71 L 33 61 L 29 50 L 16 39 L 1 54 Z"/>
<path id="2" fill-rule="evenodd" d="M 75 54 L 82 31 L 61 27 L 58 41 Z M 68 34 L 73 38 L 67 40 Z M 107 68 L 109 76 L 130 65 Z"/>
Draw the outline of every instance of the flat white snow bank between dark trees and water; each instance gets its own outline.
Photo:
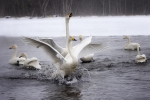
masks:
<path id="1" fill-rule="evenodd" d="M 73 36 L 150 35 L 150 16 L 72 17 Z M 0 36 L 65 36 L 65 18 L 0 18 Z"/>

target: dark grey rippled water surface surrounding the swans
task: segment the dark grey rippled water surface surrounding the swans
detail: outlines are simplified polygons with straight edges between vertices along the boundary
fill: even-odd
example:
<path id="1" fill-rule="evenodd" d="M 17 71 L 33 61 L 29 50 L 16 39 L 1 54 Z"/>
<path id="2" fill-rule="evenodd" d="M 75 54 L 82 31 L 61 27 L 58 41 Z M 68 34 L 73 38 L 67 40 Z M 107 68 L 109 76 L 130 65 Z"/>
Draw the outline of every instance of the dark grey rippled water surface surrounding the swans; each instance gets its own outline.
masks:
<path id="1" fill-rule="evenodd" d="M 65 46 L 64 37 L 54 40 Z M 0 37 L 0 100 L 150 100 L 150 36 L 131 36 L 131 41 L 141 44 L 147 63 L 135 63 L 137 51 L 124 50 L 127 40 L 121 36 L 93 37 L 93 43 L 107 42 L 110 48 L 95 54 L 94 62 L 79 61 L 79 67 L 88 69 L 90 76 L 83 71 L 79 81 L 60 85 L 40 76 L 48 73 L 44 66 L 52 66 L 41 50 L 25 45 L 18 37 Z M 14 44 L 18 56 L 26 52 L 37 57 L 42 71 L 9 65 L 13 54 L 9 47 Z"/>

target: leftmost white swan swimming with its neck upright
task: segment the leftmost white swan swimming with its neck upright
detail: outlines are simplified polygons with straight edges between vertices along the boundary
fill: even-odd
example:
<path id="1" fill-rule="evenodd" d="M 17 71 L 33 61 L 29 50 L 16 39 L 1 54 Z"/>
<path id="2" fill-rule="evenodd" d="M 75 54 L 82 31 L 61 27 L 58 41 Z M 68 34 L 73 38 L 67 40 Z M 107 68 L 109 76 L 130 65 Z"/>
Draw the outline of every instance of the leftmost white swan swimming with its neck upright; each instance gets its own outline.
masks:
<path id="1" fill-rule="evenodd" d="M 13 45 L 9 49 L 15 49 L 15 51 L 14 51 L 12 58 L 8 61 L 8 63 L 9 64 L 17 64 L 17 65 L 24 64 L 25 58 L 16 57 L 17 51 L 18 51 L 17 45 Z"/>

